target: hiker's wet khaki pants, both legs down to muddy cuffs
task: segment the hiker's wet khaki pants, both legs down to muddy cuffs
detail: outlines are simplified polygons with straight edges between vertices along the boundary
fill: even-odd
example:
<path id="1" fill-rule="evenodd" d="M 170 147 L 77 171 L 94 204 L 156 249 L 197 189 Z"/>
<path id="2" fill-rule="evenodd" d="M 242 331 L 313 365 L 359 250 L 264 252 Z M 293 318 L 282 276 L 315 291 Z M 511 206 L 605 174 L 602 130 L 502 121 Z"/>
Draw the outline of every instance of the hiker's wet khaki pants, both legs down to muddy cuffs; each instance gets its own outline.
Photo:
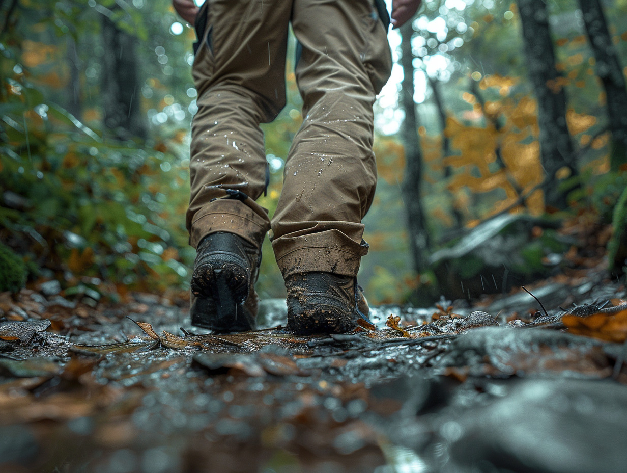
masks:
<path id="1" fill-rule="evenodd" d="M 372 104 L 392 65 L 372 0 L 206 0 L 201 15 L 206 27 L 192 68 L 198 113 L 190 244 L 226 231 L 261 246 L 271 228 L 284 278 L 357 275 L 368 248 L 361 220 L 377 180 Z M 295 73 L 304 120 L 270 222 L 255 202 L 268 180 L 259 124 L 285 106 L 290 22 L 302 45 Z"/>

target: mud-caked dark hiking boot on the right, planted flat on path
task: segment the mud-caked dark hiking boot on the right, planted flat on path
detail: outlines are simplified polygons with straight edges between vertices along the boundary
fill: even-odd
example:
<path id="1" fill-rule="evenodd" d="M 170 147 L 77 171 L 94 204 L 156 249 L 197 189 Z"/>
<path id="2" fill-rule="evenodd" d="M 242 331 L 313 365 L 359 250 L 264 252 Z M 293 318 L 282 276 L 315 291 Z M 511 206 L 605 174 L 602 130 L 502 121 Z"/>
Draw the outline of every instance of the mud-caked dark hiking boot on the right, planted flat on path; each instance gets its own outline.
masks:
<path id="1" fill-rule="evenodd" d="M 297 335 L 343 334 L 368 320 L 368 303 L 357 278 L 300 273 L 285 280 L 287 328 Z"/>

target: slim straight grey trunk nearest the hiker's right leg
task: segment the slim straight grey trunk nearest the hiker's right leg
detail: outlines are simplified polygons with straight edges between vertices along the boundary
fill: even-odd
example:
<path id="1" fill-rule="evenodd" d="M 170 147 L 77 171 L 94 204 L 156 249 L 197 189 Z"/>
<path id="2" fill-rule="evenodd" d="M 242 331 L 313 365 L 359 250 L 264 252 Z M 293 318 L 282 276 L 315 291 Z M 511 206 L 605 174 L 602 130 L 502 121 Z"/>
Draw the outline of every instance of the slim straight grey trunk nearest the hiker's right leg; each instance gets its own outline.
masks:
<path id="1" fill-rule="evenodd" d="M 403 202 L 407 212 L 407 229 L 409 246 L 414 260 L 414 268 L 418 273 L 426 267 L 426 250 L 429 236 L 426 229 L 426 218 L 421 199 L 423 157 L 418 136 L 416 104 L 414 102 L 414 67 L 411 52 L 411 36 L 414 31 L 411 21 L 401 27 L 401 66 L 403 67 L 403 84 L 401 104 L 405 111 L 405 119 L 401 124 L 401 134 L 405 148 L 405 177 L 403 182 Z"/>

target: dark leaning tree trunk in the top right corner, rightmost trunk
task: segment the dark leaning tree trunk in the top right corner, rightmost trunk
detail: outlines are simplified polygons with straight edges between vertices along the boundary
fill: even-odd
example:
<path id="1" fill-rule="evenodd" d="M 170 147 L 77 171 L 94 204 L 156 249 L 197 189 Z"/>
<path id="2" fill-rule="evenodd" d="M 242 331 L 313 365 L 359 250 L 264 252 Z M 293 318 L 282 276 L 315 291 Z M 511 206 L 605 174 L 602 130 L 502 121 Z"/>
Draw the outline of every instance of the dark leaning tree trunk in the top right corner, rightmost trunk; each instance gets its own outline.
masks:
<path id="1" fill-rule="evenodd" d="M 587 36 L 596 59 L 596 73 L 601 79 L 608 104 L 609 129 L 612 132 L 610 167 L 618 171 L 627 163 L 627 89 L 623 68 L 609 36 L 599 0 L 579 0 Z"/>

